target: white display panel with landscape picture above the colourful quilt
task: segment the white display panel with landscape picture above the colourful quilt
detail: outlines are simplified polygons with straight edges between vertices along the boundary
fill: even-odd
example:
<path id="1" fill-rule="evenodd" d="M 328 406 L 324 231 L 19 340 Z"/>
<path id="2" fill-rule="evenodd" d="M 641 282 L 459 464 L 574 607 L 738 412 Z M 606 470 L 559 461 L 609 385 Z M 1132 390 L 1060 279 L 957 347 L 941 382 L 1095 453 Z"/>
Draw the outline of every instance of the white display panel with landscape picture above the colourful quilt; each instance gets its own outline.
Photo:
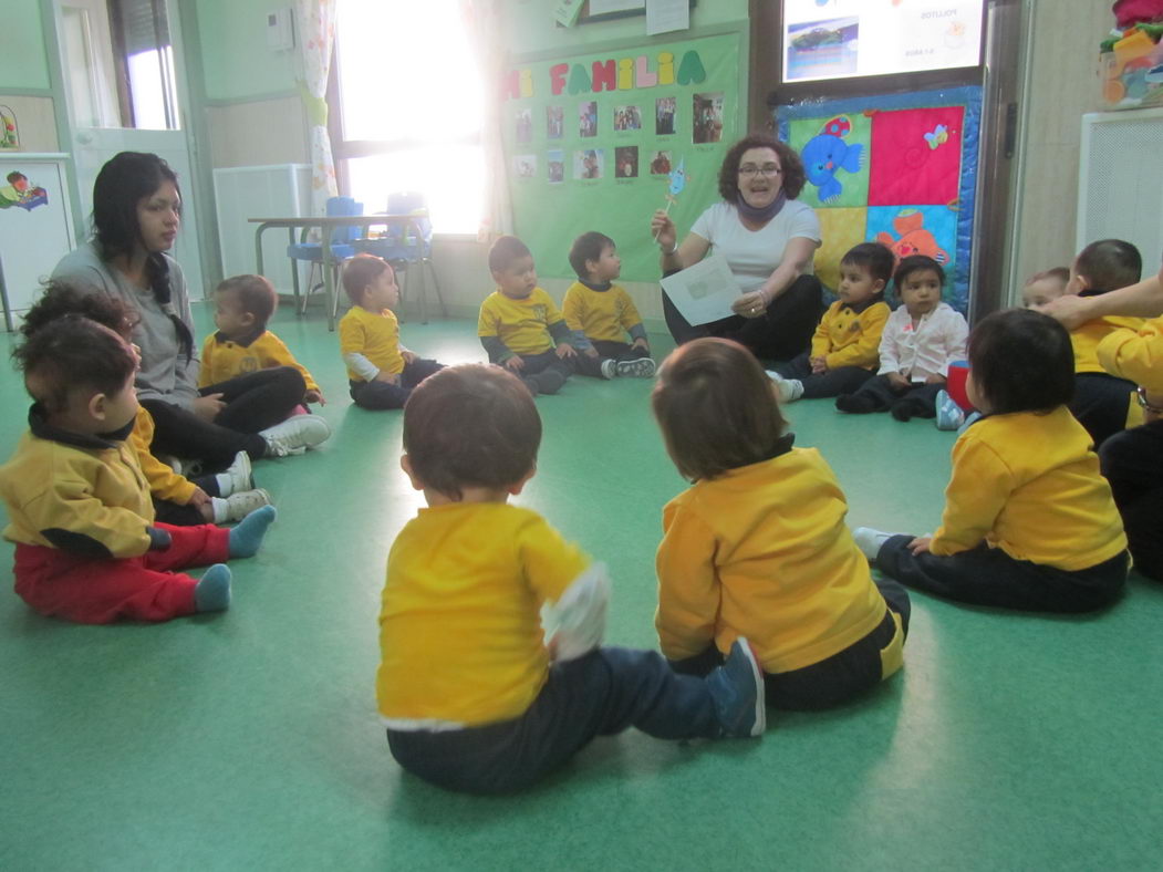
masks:
<path id="1" fill-rule="evenodd" d="M 985 0 L 784 0 L 784 81 L 977 66 Z"/>

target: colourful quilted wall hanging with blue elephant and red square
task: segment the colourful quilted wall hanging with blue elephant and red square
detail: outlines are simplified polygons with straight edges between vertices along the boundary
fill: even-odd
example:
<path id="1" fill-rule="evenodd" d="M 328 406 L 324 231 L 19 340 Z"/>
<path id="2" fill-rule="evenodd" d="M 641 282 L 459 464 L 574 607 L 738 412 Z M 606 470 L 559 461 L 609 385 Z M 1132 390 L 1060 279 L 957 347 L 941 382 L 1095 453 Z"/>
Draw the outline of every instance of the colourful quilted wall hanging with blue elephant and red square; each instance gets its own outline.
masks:
<path id="1" fill-rule="evenodd" d="M 898 262 L 940 263 L 946 301 L 968 312 L 982 90 L 813 101 L 776 115 L 804 160 L 799 200 L 820 217 L 820 280 L 836 287 L 844 252 L 879 241 Z"/>

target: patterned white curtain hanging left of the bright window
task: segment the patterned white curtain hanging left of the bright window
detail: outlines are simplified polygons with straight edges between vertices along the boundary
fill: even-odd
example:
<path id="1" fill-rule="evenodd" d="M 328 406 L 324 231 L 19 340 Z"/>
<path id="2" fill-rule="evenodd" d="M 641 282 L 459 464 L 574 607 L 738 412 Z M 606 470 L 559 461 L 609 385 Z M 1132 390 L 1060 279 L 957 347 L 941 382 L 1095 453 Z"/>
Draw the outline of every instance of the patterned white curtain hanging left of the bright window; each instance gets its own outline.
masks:
<path id="1" fill-rule="evenodd" d="M 336 0 L 295 0 L 299 24 L 299 95 L 311 127 L 311 208 L 327 209 L 327 199 L 340 193 L 335 183 L 331 137 L 327 133 L 327 76 L 335 45 Z"/>

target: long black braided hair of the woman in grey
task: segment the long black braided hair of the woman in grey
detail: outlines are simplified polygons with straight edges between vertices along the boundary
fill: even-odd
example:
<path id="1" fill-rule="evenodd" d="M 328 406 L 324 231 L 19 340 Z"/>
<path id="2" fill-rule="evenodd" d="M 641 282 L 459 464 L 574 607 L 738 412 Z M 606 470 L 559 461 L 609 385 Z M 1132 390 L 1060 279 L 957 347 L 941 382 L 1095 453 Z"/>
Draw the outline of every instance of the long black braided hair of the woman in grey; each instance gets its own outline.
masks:
<path id="1" fill-rule="evenodd" d="M 157 191 L 163 183 L 178 187 L 178 176 L 157 155 L 145 151 L 122 151 L 109 158 L 93 183 L 93 238 L 105 262 L 117 256 L 131 257 L 141 244 L 137 203 Z M 178 344 L 188 362 L 194 353 L 194 336 L 171 306 L 173 288 L 170 284 L 170 264 L 162 251 L 145 256 L 145 280 L 154 299 L 173 322 Z"/>

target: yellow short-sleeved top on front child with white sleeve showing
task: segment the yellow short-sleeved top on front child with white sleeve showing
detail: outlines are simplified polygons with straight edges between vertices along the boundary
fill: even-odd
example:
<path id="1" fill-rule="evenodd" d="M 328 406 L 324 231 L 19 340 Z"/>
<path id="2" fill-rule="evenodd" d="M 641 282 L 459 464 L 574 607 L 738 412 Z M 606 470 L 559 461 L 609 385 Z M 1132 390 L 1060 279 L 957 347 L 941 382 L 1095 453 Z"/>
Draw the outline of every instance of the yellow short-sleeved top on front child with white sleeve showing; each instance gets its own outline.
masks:
<path id="1" fill-rule="evenodd" d="M 380 714 L 466 727 L 521 715 L 549 670 L 542 603 L 558 600 L 588 565 L 528 509 L 420 509 L 387 558 Z"/>

